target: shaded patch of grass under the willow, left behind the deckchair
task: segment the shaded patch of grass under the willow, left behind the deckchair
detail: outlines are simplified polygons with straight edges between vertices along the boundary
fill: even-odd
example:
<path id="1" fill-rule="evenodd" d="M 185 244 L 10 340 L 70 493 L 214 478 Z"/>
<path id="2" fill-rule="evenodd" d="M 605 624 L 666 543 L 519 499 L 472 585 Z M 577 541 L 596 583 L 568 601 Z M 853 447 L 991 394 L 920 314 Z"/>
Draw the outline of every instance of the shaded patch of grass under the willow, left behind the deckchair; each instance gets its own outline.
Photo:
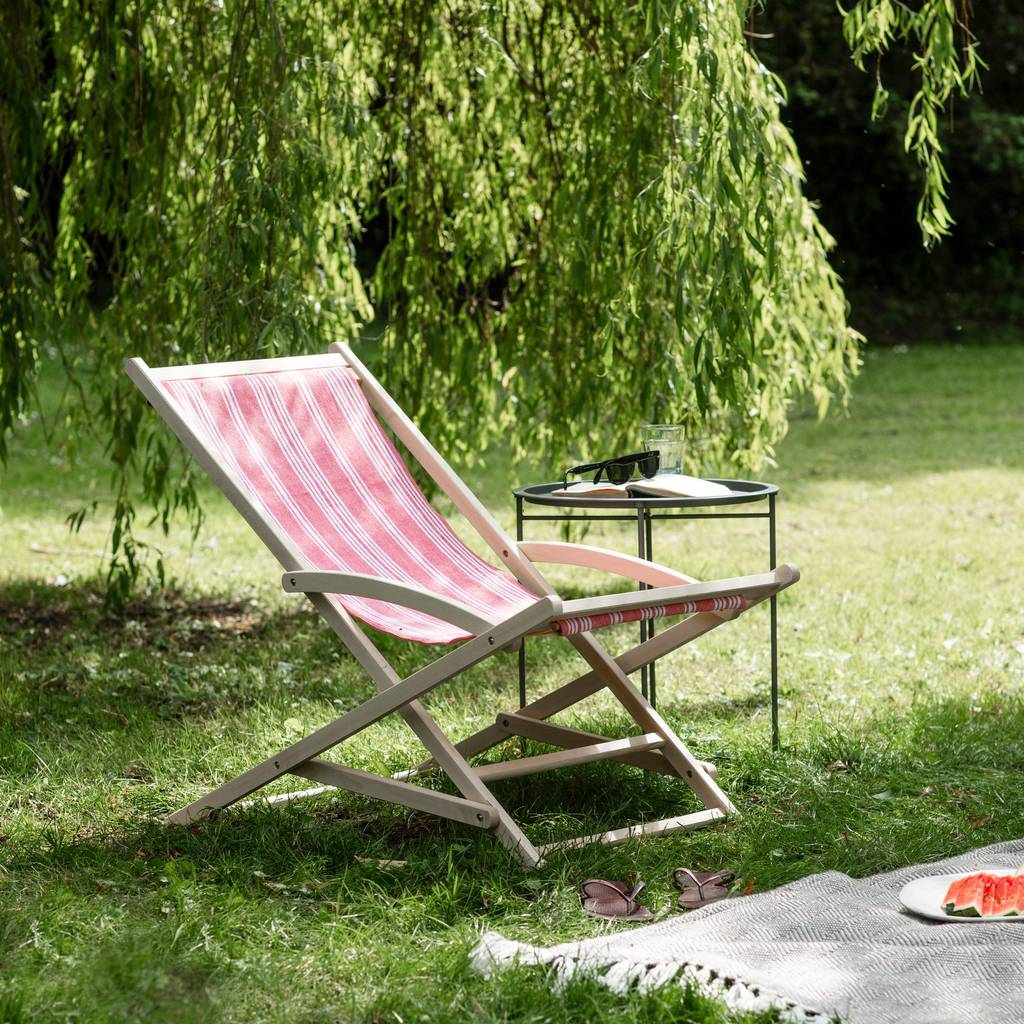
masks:
<path id="1" fill-rule="evenodd" d="M 364 699 L 373 692 L 342 643 L 305 604 L 267 612 L 254 601 L 165 591 L 137 596 L 115 611 L 102 593 L 97 581 L 0 586 L 6 652 L 0 671 L 23 684 L 31 710 L 44 710 L 62 693 L 70 701 L 63 710 L 76 718 L 88 719 L 98 709 L 126 722 L 117 708 L 177 719 L 259 705 L 282 689 L 299 701 Z M 402 675 L 449 649 L 380 633 L 373 639 Z M 499 660 L 513 671 L 510 657 Z M 46 724 L 45 715 L 25 723 Z"/>

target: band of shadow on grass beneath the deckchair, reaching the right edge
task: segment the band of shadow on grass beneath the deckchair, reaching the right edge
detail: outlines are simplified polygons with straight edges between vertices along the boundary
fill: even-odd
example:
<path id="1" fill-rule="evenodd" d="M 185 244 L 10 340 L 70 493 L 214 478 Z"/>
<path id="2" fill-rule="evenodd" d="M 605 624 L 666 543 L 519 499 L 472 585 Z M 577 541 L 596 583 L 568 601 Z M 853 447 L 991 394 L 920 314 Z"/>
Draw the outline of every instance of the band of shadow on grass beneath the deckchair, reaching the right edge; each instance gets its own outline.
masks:
<path id="1" fill-rule="evenodd" d="M 1020 838 L 1024 794 L 1016 779 L 1024 751 L 1008 748 L 1006 736 L 1022 730 L 1019 706 L 950 699 L 876 717 L 857 732 L 822 730 L 782 755 L 752 745 L 720 769 L 741 816 L 724 828 L 689 834 L 686 842 L 718 843 L 748 869 L 756 865 L 759 878 L 788 881 L 825 868 L 873 873 Z M 537 842 L 696 807 L 678 780 L 607 762 L 510 779 L 494 790 Z M 83 827 L 47 833 L 42 842 L 26 839 L 0 847 L 10 877 L 59 874 L 89 891 L 97 872 L 155 884 L 153 872 L 175 860 L 209 884 L 283 898 L 315 898 L 337 885 L 354 887 L 355 895 L 364 883 L 398 891 L 453 871 L 521 876 L 518 861 L 492 837 L 347 794 L 229 810 L 189 827 L 136 819 L 109 831 Z M 540 876 L 557 876 L 578 860 L 595 867 L 609 859 L 642 862 L 660 843 L 672 841 L 558 855 Z M 408 869 L 382 872 L 357 857 L 404 860 Z M 796 864 L 803 869 L 794 874 Z"/>

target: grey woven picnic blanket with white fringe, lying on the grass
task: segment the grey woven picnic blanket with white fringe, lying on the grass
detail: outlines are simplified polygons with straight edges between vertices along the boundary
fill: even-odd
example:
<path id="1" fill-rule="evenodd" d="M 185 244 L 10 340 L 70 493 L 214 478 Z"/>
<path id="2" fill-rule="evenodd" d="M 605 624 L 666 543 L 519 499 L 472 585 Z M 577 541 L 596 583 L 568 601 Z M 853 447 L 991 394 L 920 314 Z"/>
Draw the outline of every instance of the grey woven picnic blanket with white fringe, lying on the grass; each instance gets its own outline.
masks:
<path id="1" fill-rule="evenodd" d="M 901 908 L 905 883 L 985 866 L 1014 871 L 1024 840 L 866 879 L 824 871 L 644 928 L 550 948 L 484 934 L 474 964 L 548 965 L 617 991 L 692 984 L 735 1010 L 777 1008 L 823 1024 L 1022 1024 L 1024 920 L 927 921 Z"/>

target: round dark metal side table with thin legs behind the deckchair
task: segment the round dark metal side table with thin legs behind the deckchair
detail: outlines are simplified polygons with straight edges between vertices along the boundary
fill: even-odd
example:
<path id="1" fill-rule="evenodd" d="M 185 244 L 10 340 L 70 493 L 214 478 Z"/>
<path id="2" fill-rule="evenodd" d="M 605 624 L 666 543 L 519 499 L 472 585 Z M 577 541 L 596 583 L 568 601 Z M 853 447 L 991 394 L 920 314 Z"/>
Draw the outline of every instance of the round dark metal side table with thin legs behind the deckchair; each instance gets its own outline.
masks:
<path id="1" fill-rule="evenodd" d="M 768 520 L 768 563 L 775 568 L 775 497 L 778 487 L 774 483 L 757 480 L 714 479 L 732 492 L 718 498 L 566 498 L 553 495 L 561 483 L 535 483 L 527 487 L 517 487 L 515 495 L 516 540 L 525 540 L 523 524 L 527 522 L 630 522 L 636 524 L 637 557 L 654 560 L 653 522 L 656 519 L 767 519 Z M 734 505 L 750 505 L 767 501 L 767 511 L 720 512 L 719 508 Z M 540 506 L 541 511 L 524 512 L 524 505 Z M 693 511 L 695 509 L 712 511 Z M 547 510 L 551 511 L 548 512 Z M 555 511 L 559 510 L 559 511 Z M 646 584 L 640 584 L 646 590 Z M 771 744 L 778 750 L 778 607 L 777 598 L 770 599 L 771 607 Z M 640 642 L 654 635 L 655 620 L 640 621 Z M 649 697 L 652 706 L 657 702 L 657 683 L 654 663 L 640 670 L 640 689 Z M 519 647 L 519 706 L 526 703 L 526 644 Z"/>

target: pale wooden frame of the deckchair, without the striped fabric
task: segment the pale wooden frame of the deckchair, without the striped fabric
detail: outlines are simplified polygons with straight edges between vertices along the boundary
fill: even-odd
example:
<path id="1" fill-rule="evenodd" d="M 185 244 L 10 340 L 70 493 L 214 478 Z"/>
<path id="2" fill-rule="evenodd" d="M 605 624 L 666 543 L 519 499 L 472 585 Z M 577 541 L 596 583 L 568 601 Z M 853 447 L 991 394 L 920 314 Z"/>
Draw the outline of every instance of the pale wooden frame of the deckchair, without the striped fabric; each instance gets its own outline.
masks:
<path id="1" fill-rule="evenodd" d="M 347 367 L 355 374 L 376 415 L 465 516 L 501 564 L 537 596 L 534 604 L 504 622 L 490 622 L 457 601 L 407 583 L 359 573 L 321 571 L 308 566 L 290 539 L 264 515 L 247 494 L 243 483 L 214 457 L 161 387 L 164 381 L 170 380 L 329 367 Z M 629 676 L 642 666 L 716 629 L 723 622 L 736 617 L 738 610 L 698 612 L 617 657 L 609 654 L 591 633 L 566 637 L 587 662 L 590 671 L 517 712 L 498 715 L 494 725 L 457 743 L 438 727 L 420 698 L 495 652 L 520 643 L 531 633 L 545 631 L 554 620 L 737 594 L 741 594 L 746 606 L 751 606 L 795 583 L 800 573 L 794 566 L 782 564 L 772 572 L 699 583 L 666 566 L 586 545 L 537 542 L 517 544 L 505 534 L 351 349 L 343 344 L 332 345 L 325 355 L 162 369 L 151 369 L 141 359 L 134 358 L 127 360 L 125 369 L 197 462 L 221 487 L 239 513 L 281 562 L 285 569 L 282 578 L 285 590 L 306 594 L 378 689 L 376 696 L 359 707 L 182 807 L 170 815 L 169 822 L 184 824 L 201 820 L 249 797 L 281 776 L 292 774 L 321 783 L 322 787 L 347 790 L 494 830 L 526 867 L 534 867 L 548 852 L 560 847 L 574 847 L 592 842 L 614 844 L 637 836 L 697 828 L 736 813 L 736 809 L 718 785 L 714 766 L 705 764 L 690 753 L 633 685 Z M 653 589 L 562 602 L 537 568 L 537 562 L 560 562 L 604 569 L 647 584 Z M 414 608 L 452 623 L 471 633 L 472 637 L 430 665 L 401 679 L 354 618 L 340 604 L 330 601 L 326 596 L 328 594 L 369 597 Z M 611 691 L 642 730 L 640 736 L 609 739 L 547 721 L 558 712 L 605 688 Z M 385 778 L 322 759 L 321 755 L 326 751 L 391 714 L 400 715 L 404 719 L 430 754 L 429 761 L 408 772 Z M 474 767 L 469 763 L 468 758 L 510 735 L 532 737 L 562 746 L 563 750 L 498 765 Z M 487 781 L 497 778 L 602 759 L 678 777 L 696 794 L 705 809 L 662 821 L 645 822 L 601 835 L 537 847 L 486 785 Z M 411 776 L 434 768 L 440 768 L 449 775 L 461 796 L 437 793 L 406 781 Z M 288 800 L 296 796 L 301 794 L 286 794 L 270 799 Z"/>

